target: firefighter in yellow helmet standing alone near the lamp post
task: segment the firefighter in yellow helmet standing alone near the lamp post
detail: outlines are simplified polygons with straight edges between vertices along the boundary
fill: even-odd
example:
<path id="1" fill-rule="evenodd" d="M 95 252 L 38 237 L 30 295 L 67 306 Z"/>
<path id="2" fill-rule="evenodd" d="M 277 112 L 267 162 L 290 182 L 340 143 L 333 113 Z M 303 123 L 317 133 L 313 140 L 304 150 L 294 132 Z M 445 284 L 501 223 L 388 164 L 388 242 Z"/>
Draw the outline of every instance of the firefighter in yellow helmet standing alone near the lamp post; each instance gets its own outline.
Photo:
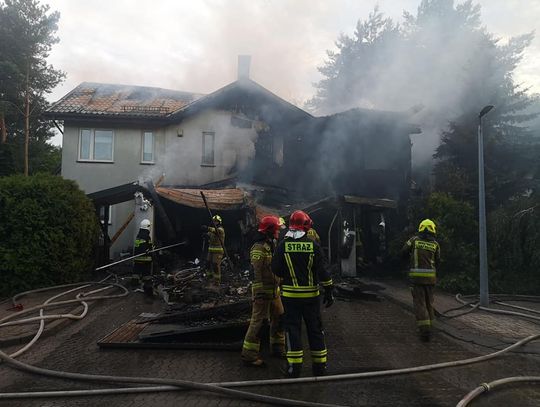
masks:
<path id="1" fill-rule="evenodd" d="M 424 219 L 418 226 L 418 234 L 407 240 L 402 249 L 403 255 L 410 258 L 409 282 L 417 332 L 420 339 L 425 342 L 431 338 L 434 321 L 433 287 L 441 259 L 436 234 L 435 223 L 430 219 Z"/>

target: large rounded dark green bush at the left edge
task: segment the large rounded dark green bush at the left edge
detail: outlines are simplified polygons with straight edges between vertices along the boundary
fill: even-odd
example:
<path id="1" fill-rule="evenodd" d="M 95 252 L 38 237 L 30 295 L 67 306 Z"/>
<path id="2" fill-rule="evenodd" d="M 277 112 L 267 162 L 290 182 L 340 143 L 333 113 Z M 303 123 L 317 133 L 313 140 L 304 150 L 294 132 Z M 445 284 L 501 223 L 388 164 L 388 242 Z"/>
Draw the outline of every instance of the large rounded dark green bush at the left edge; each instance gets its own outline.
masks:
<path id="1" fill-rule="evenodd" d="M 73 181 L 0 178 L 0 296 L 80 281 L 93 265 L 94 207 Z"/>

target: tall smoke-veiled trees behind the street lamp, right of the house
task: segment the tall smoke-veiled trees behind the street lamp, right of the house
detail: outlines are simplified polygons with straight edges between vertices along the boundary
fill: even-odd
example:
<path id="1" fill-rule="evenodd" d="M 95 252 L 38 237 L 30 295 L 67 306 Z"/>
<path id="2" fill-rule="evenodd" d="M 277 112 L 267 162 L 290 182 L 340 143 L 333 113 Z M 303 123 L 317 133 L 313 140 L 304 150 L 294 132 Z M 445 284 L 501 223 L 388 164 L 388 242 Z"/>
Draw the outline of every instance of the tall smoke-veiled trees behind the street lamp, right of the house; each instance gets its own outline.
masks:
<path id="1" fill-rule="evenodd" d="M 478 113 L 496 106 L 484 127 L 488 201 L 495 206 L 530 188 L 531 174 L 538 174 L 538 138 L 526 126 L 535 97 L 513 79 L 532 38 L 502 44 L 481 26 L 480 7 L 470 0 L 423 0 L 415 14 L 404 13 L 401 26 L 376 8 L 352 37 L 339 38 L 338 52 L 328 53 L 310 105 L 328 112 L 423 104 L 411 118 L 424 133 L 413 153 L 427 161 L 436 150 L 436 190 L 469 202 L 477 193 Z"/>

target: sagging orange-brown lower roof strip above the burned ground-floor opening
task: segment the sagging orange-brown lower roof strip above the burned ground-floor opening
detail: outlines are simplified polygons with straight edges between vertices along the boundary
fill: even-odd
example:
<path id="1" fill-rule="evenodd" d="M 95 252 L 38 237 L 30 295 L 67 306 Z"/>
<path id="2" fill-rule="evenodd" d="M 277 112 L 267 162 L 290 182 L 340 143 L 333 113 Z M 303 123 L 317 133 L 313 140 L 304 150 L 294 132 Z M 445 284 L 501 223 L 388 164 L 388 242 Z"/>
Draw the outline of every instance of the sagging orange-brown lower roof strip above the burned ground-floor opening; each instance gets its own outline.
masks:
<path id="1" fill-rule="evenodd" d="M 229 189 L 178 189 L 158 187 L 156 192 L 159 196 L 166 198 L 177 204 L 189 206 L 191 208 L 204 209 L 204 201 L 201 196 L 203 191 L 212 210 L 234 210 L 241 209 L 246 205 L 246 195 L 238 188 Z"/>

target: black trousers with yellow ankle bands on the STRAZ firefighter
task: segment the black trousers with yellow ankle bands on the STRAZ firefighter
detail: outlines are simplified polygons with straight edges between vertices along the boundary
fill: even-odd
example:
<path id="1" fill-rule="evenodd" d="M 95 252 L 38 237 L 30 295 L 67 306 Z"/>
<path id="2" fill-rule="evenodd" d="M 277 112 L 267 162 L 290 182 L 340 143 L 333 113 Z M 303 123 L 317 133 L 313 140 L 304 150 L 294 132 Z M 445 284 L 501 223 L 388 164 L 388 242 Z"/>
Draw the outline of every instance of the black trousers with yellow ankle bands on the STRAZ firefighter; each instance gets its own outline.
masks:
<path id="1" fill-rule="evenodd" d="M 313 370 L 326 368 L 326 344 L 321 319 L 319 297 L 282 297 L 285 309 L 284 327 L 287 346 L 287 363 L 292 375 L 299 375 L 304 361 L 302 346 L 302 319 L 306 323 Z"/>

